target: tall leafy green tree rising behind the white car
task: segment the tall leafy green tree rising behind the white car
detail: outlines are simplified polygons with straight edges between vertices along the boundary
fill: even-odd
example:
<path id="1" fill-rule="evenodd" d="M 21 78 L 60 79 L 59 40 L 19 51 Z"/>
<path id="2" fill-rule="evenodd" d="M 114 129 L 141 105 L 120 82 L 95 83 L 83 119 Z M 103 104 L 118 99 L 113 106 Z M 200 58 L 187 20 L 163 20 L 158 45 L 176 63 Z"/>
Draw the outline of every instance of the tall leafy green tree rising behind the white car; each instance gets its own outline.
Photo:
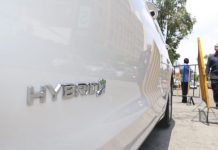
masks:
<path id="1" fill-rule="evenodd" d="M 191 33 L 196 20 L 187 12 L 186 0 L 156 0 L 155 3 L 160 9 L 157 21 L 169 45 L 170 60 L 174 63 L 180 57 L 176 50 L 181 40 Z"/>

